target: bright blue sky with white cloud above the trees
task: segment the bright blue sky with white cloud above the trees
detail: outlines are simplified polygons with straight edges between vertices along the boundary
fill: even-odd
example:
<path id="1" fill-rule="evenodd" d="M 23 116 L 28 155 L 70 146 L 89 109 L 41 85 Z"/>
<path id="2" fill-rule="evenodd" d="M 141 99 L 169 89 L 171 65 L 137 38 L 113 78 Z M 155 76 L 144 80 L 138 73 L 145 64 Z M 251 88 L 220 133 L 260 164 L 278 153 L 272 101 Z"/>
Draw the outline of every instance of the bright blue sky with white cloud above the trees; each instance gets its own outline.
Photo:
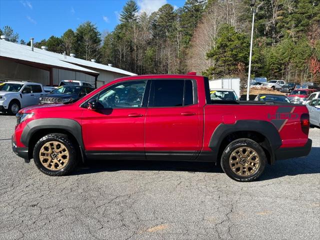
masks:
<path id="1" fill-rule="evenodd" d="M 19 39 L 35 41 L 51 35 L 61 36 L 65 30 L 90 20 L 99 31 L 112 31 L 126 0 L 0 0 L 0 27 L 9 25 Z M 184 0 L 136 0 L 139 10 L 151 12 L 170 3 L 180 7 Z"/>

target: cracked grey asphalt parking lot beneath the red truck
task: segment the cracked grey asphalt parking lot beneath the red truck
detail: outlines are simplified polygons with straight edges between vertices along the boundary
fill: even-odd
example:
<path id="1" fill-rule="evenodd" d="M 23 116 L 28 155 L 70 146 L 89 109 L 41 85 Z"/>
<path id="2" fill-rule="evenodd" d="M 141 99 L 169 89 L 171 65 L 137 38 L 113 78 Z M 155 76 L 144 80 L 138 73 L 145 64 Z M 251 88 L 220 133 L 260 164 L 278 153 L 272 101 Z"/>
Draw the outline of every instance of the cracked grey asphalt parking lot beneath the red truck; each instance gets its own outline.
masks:
<path id="1" fill-rule="evenodd" d="M 93 161 L 50 177 L 0 115 L 0 239 L 318 239 L 320 129 L 307 157 L 239 183 L 210 163 Z"/>

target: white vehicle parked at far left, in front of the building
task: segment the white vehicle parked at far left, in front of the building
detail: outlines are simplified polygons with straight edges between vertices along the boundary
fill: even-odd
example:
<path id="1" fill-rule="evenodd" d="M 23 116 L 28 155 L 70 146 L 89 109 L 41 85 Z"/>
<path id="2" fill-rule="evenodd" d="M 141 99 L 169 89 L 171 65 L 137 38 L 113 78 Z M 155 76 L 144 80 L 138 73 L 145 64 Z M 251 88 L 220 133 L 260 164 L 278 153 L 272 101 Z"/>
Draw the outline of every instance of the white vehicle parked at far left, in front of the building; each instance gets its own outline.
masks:
<path id="1" fill-rule="evenodd" d="M 7 81 L 0 83 L 0 111 L 16 114 L 20 108 L 36 105 L 47 94 L 40 83 Z"/>

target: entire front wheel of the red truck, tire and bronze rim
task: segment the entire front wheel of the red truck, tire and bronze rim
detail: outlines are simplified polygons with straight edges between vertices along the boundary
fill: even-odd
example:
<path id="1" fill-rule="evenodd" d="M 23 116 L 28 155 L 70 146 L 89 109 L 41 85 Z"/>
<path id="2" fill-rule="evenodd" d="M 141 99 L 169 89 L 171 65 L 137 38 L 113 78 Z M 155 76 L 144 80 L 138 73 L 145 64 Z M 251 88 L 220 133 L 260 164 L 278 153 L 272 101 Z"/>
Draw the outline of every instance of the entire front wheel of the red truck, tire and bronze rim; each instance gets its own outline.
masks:
<path id="1" fill-rule="evenodd" d="M 61 176 L 71 172 L 76 166 L 76 151 L 67 135 L 50 133 L 35 143 L 33 159 L 43 173 Z"/>

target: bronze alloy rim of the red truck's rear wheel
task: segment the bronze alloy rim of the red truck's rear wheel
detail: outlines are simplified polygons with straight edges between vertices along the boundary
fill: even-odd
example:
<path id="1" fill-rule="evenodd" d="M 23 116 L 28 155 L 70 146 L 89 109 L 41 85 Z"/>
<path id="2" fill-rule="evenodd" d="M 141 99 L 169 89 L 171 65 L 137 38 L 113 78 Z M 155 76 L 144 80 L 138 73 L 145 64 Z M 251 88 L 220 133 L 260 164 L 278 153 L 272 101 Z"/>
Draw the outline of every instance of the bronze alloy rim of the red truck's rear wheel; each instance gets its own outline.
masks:
<path id="1" fill-rule="evenodd" d="M 260 167 L 259 155 L 250 147 L 238 147 L 231 152 L 229 164 L 232 171 L 239 176 L 254 174 Z"/>

